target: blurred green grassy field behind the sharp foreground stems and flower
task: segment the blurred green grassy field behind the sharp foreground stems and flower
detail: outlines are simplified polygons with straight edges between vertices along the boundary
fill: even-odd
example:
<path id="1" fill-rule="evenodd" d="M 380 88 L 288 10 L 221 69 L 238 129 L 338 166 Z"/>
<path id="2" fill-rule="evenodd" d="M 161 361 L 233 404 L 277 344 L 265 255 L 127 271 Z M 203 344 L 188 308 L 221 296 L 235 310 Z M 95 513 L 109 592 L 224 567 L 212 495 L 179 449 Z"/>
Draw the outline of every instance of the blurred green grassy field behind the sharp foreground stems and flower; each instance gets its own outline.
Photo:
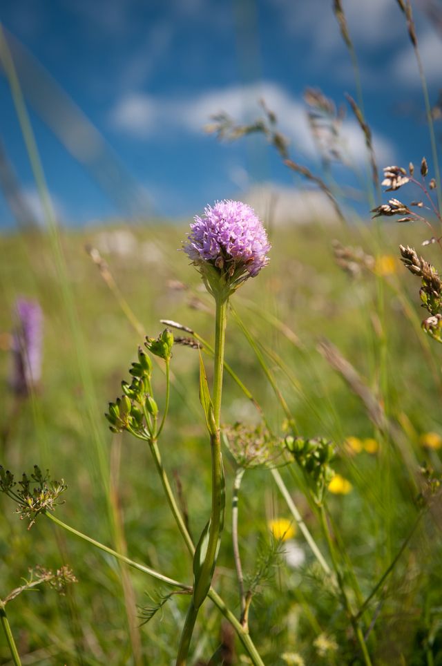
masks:
<path id="1" fill-rule="evenodd" d="M 121 380 L 128 379 L 142 332 L 157 336 L 163 328 L 160 318 L 178 321 L 213 341 L 211 301 L 198 273 L 177 251 L 185 235 L 185 227 L 167 225 L 64 231 L 59 246 L 39 231 L 2 236 L 0 428 L 5 468 L 20 477 L 39 464 L 68 485 L 65 503 L 55 513 L 60 520 L 190 583 L 191 558 L 148 447 L 127 433 L 112 435 L 104 419 L 108 402 L 121 393 Z M 355 614 L 394 562 L 362 613 L 369 652 L 380 665 L 442 663 L 441 516 L 435 501 L 425 509 L 416 502 L 423 487 L 419 466 L 425 461 L 436 474 L 441 472 L 442 439 L 433 437 L 434 446 L 425 447 L 430 441 L 426 433 L 442 435 L 441 352 L 421 331 L 419 280 L 405 271 L 397 251 L 398 242 L 417 246 L 424 238 L 423 228 L 385 222 L 273 229 L 269 267 L 232 299 L 227 331 L 227 363 L 260 403 L 273 432 L 283 437 L 291 422 L 304 437 L 334 443 L 332 468 L 351 490 L 347 485 L 347 493 L 327 493 L 329 529 Z M 334 259 L 334 239 L 363 247 L 375 263 L 352 278 Z M 86 254 L 86 244 L 100 249 L 136 321 L 128 320 Z M 436 247 L 426 248 L 425 256 L 438 265 Z M 18 296 L 37 298 L 44 312 L 41 386 L 26 399 L 17 399 L 8 386 L 9 332 Z M 343 357 L 340 370 L 320 353 L 329 343 Z M 343 359 L 361 385 L 354 377 L 349 381 L 348 372 L 345 380 Z M 204 361 L 210 381 L 210 355 Z M 210 511 L 210 450 L 198 399 L 198 352 L 175 345 L 171 369 L 171 410 L 160 450 L 175 490 L 181 488 L 195 538 Z M 154 383 L 161 410 L 161 363 L 155 365 Z M 259 419 L 252 401 L 226 375 L 222 422 L 257 424 Z M 363 448 L 367 439 L 376 442 L 367 445 L 368 451 Z M 278 464 L 332 565 L 304 477 L 289 457 Z M 234 469 L 228 455 L 225 468 L 227 516 L 214 585 L 238 614 L 230 508 Z M 150 622 L 141 624 L 143 608 L 155 605 L 167 587 L 120 566 L 44 516 L 27 531 L 7 497 L 1 497 L 1 511 L 1 598 L 37 566 L 56 570 L 67 564 L 78 581 L 68 585 L 64 596 L 41 584 L 8 602 L 23 664 L 174 662 L 186 597 L 173 596 Z M 265 663 L 363 663 L 336 580 L 318 568 L 271 470 L 246 471 L 239 513 L 244 572 L 253 576 L 260 562 L 268 560 L 266 580 L 258 586 L 249 617 Z M 282 541 L 279 556 L 272 558 L 269 521 L 278 518 L 290 520 L 296 535 Z M 297 567 L 287 562 L 294 546 L 303 555 Z M 224 663 L 248 663 L 238 641 L 229 647 L 232 641 L 229 625 L 207 600 L 191 663 L 208 663 L 223 642 Z M 0 660 L 10 663 L 3 636 Z M 211 663 L 223 663 L 222 658 Z"/>

